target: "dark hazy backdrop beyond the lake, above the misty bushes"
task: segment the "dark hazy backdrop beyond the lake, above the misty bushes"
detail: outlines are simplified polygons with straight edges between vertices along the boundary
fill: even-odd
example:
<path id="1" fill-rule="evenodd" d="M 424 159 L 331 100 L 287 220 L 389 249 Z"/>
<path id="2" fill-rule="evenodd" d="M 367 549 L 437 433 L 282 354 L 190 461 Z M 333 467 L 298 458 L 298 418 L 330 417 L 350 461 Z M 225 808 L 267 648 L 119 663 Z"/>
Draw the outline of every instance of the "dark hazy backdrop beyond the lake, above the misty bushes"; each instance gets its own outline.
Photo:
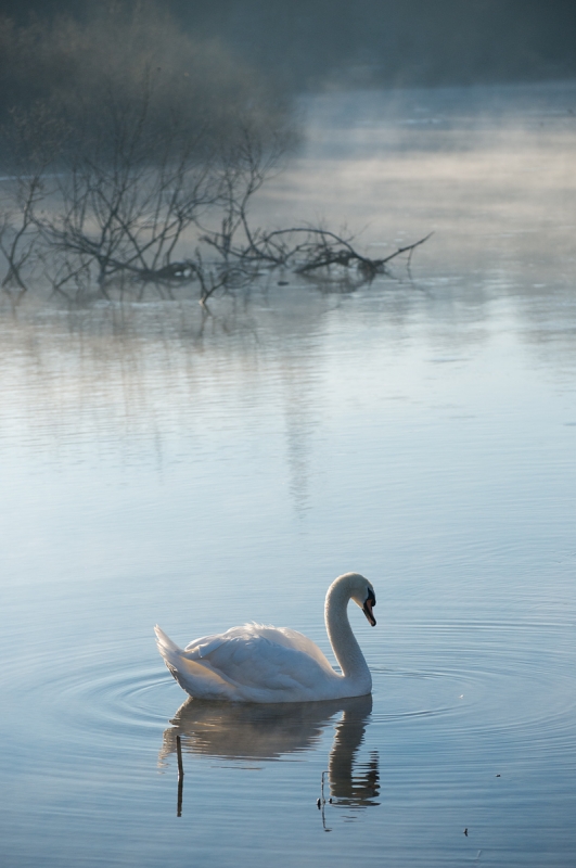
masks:
<path id="1" fill-rule="evenodd" d="M 117 4 L 128 5 L 126 3 Z M 79 21 L 101 2 L 4 0 L 20 24 Z M 194 38 L 217 38 L 283 85 L 440 85 L 576 74 L 572 0 L 169 0 Z"/>

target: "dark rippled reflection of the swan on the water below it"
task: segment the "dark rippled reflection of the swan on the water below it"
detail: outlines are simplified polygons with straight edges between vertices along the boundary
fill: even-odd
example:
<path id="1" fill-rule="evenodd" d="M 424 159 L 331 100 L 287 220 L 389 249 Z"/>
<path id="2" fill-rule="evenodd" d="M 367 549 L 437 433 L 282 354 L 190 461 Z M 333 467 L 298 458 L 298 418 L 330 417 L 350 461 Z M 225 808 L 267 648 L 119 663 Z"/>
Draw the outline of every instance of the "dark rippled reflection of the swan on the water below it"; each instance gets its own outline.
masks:
<path id="1" fill-rule="evenodd" d="M 315 750 L 332 718 L 342 712 L 328 762 L 330 797 L 336 807 L 366 808 L 379 804 L 380 792 L 377 751 L 370 753 L 368 763 L 357 762 L 371 711 L 370 694 L 277 705 L 189 699 L 164 732 L 159 761 L 177 752 L 177 737 L 184 754 L 232 761 L 278 760 Z M 179 802 L 181 793 L 180 787 Z"/>

